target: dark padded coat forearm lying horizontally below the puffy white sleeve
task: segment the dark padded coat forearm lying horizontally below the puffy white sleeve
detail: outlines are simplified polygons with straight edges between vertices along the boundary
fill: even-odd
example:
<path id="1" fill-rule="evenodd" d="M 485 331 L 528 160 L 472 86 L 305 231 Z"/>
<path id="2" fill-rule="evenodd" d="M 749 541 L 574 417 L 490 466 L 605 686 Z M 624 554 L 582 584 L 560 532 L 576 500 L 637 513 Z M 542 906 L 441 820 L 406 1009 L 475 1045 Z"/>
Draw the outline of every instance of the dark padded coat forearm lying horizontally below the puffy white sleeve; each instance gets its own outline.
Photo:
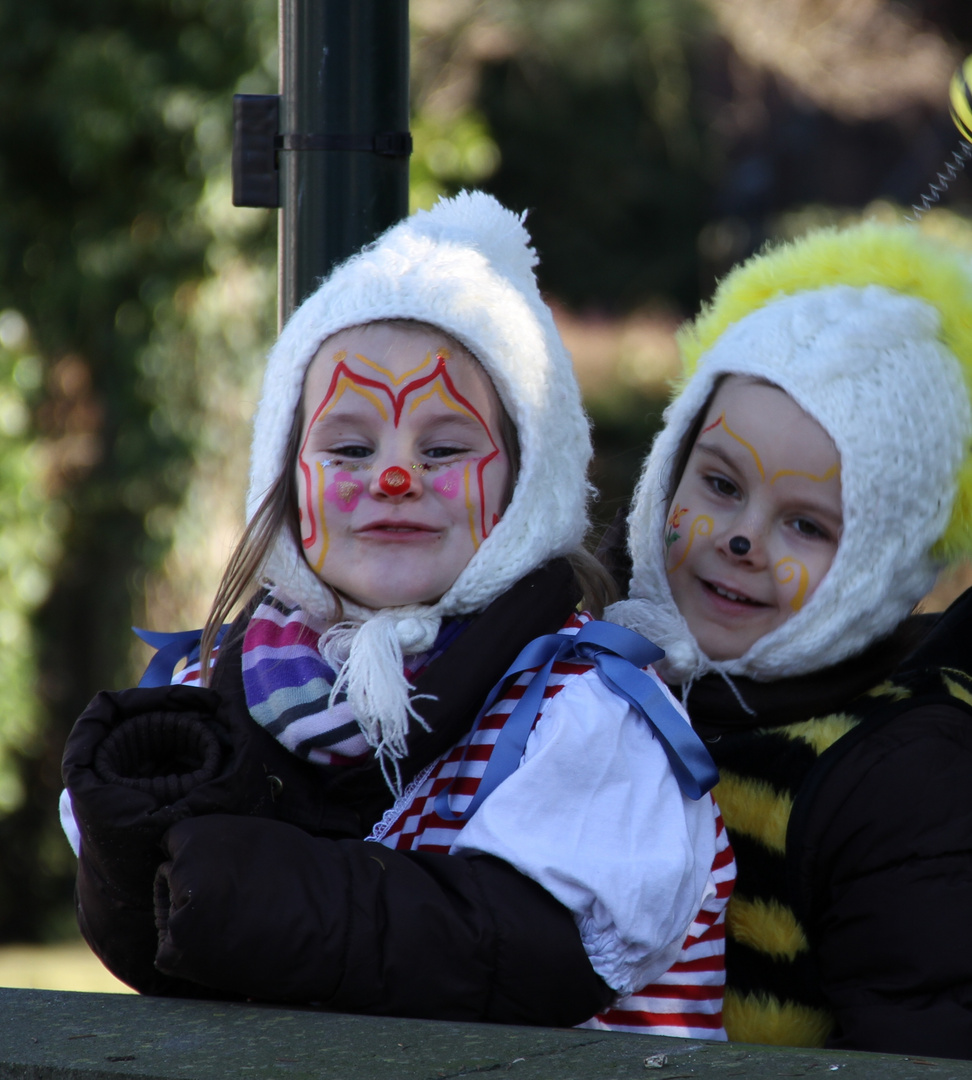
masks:
<path id="1" fill-rule="evenodd" d="M 157 967 L 346 1012 L 572 1025 L 611 999 L 570 913 L 489 856 L 399 852 L 221 814 L 165 838 Z"/>

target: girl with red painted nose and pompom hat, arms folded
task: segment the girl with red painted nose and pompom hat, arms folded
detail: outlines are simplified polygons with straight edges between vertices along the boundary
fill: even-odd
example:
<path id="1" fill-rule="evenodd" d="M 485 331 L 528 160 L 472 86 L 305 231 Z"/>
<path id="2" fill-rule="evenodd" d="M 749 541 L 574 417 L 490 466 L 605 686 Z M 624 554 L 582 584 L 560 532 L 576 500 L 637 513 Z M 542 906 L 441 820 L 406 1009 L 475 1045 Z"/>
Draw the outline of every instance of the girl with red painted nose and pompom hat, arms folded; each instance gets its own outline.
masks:
<path id="1" fill-rule="evenodd" d="M 535 262 L 463 194 L 284 328 L 210 662 L 65 753 L 81 928 L 136 989 L 725 1038 L 714 770 L 648 643 L 647 715 L 590 651 L 619 629 L 578 610 L 610 582 Z"/>

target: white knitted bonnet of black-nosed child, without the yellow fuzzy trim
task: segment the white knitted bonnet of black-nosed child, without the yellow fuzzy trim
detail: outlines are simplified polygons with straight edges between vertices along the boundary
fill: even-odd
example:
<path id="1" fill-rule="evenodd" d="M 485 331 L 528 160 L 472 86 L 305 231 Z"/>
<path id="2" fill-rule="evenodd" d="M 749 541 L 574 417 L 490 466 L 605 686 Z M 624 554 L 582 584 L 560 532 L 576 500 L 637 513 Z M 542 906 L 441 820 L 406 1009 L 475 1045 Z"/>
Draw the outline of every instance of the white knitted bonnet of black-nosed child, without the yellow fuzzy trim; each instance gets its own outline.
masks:
<path id="1" fill-rule="evenodd" d="M 969 394 L 939 324 L 922 300 L 877 285 L 836 285 L 772 300 L 702 356 L 665 410 L 635 491 L 632 599 L 607 616 L 665 650 L 657 666 L 666 679 L 718 671 L 769 680 L 828 667 L 891 633 L 929 591 L 937 570 L 931 549 L 948 522 L 972 435 Z M 715 662 L 672 599 L 663 535 L 678 446 L 727 374 L 780 387 L 834 440 L 843 531 L 804 609 L 739 659 Z"/>

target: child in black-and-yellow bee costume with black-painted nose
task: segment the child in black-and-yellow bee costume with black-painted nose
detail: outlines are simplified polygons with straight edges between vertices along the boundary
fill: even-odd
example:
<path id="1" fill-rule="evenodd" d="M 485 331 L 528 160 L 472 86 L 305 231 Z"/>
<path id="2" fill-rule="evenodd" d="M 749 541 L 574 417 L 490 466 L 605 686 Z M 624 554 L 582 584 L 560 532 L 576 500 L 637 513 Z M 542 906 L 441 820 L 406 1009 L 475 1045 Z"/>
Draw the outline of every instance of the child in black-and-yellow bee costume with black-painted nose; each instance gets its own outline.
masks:
<path id="1" fill-rule="evenodd" d="M 864 224 L 754 257 L 685 329 L 688 378 L 607 618 L 720 770 L 730 1039 L 972 1057 L 972 284 Z"/>

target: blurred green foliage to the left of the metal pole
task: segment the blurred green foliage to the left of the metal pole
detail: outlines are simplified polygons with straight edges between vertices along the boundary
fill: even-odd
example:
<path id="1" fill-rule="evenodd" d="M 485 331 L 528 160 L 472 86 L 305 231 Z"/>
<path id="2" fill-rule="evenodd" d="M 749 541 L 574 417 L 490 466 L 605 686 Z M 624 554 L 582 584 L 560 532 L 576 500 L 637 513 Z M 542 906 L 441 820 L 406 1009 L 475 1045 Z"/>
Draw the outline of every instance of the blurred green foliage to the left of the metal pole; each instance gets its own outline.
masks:
<path id="1" fill-rule="evenodd" d="M 202 427 L 202 286 L 272 260 L 270 215 L 213 205 L 231 95 L 275 90 L 275 22 L 272 0 L 0 8 L 0 940 L 49 932 L 70 895 L 60 747 L 131 680 Z"/>

